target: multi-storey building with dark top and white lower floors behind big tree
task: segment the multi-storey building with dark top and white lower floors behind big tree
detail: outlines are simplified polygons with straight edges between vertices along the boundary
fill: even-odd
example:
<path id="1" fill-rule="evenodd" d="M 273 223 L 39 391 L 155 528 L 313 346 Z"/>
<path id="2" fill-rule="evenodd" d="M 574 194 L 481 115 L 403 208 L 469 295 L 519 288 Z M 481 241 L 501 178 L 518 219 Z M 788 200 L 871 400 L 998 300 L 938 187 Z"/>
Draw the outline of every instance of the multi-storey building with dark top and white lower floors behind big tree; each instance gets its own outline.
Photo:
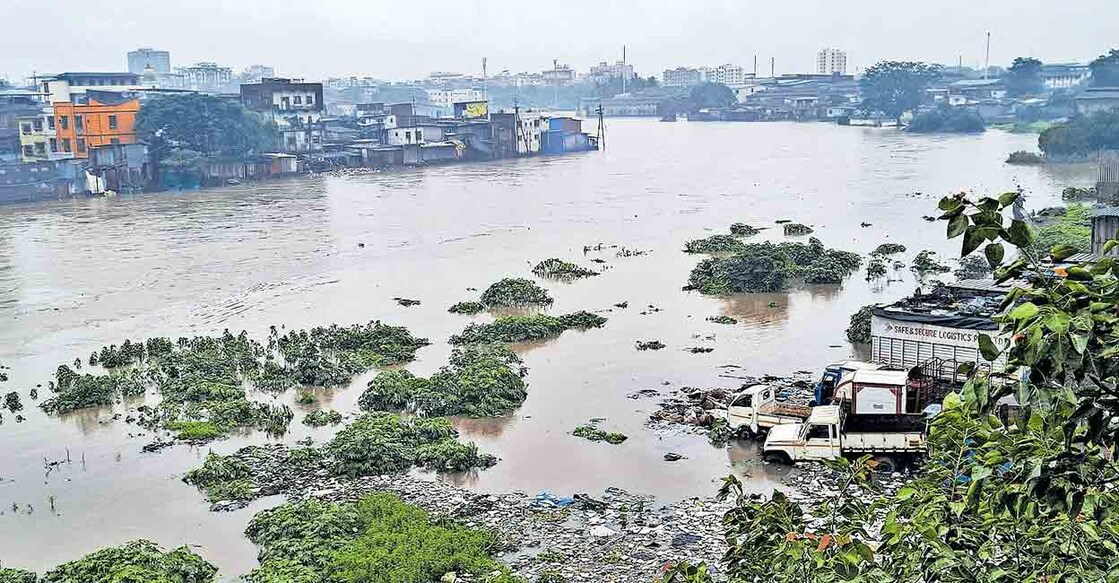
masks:
<path id="1" fill-rule="evenodd" d="M 266 78 L 241 86 L 241 102 L 271 116 L 280 129 L 280 149 L 286 153 L 322 151 L 322 84 Z"/>

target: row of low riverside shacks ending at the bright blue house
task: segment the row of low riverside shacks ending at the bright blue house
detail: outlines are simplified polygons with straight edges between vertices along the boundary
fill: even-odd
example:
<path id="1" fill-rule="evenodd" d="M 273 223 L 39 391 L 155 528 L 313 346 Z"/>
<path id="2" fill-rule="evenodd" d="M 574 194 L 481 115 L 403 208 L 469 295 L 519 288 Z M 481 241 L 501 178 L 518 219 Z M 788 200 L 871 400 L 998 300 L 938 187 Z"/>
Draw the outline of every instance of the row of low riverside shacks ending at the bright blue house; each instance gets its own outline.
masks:
<path id="1" fill-rule="evenodd" d="M 485 101 L 455 103 L 451 117 L 421 114 L 412 103 L 357 104 L 350 123 L 357 139 L 330 143 L 328 150 L 344 152 L 336 159 L 348 164 L 375 168 L 598 149 L 580 119 L 520 109 L 490 112 Z"/>

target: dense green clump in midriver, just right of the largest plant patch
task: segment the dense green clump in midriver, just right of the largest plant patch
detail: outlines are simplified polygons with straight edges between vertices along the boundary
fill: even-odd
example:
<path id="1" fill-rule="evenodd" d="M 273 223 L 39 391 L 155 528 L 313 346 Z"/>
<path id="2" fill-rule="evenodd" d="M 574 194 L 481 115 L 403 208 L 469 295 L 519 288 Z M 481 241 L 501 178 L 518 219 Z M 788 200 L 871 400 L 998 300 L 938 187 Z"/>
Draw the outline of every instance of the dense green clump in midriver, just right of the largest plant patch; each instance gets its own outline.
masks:
<path id="1" fill-rule="evenodd" d="M 377 375 L 358 399 L 364 411 L 411 410 L 424 415 L 491 417 L 511 413 L 528 396 L 517 355 L 499 345 L 455 348 L 430 378 L 406 370 Z"/>

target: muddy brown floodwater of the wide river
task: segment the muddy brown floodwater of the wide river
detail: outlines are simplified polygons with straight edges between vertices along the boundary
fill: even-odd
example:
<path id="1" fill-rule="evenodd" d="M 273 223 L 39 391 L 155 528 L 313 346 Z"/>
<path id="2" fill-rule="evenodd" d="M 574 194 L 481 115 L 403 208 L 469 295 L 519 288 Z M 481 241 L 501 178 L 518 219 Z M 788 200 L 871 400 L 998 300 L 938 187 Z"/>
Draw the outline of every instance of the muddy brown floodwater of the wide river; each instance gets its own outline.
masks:
<path id="1" fill-rule="evenodd" d="M 735 472 L 770 489 L 779 477 L 756 463 L 755 445 L 717 449 L 703 436 L 650 431 L 645 422 L 657 397 L 629 395 L 739 386 L 721 375 L 817 370 L 854 354 L 844 339 L 852 312 L 905 295 L 914 283 L 902 274 L 902 282 L 869 284 L 856 274 L 841 286 L 707 298 L 680 290 L 699 261 L 680 252 L 686 239 L 734 222 L 770 227 L 758 239 L 781 239 L 774 220 L 792 219 L 812 225 L 828 246 L 864 254 L 884 242 L 905 244 L 908 263 L 920 248 L 956 248 L 943 241 L 943 224 L 921 218 L 935 214 L 944 194 L 1021 186 L 1028 206 L 1040 207 L 1091 178 L 1085 167 L 1004 164 L 1036 138 L 999 131 L 918 137 L 652 121 L 610 121 L 608 130 L 608 151 L 563 158 L 0 207 L 0 363 L 11 367 L 3 391 L 22 394 L 27 416 L 16 423 L 6 412 L 0 425 L 0 562 L 44 570 L 143 537 L 197 545 L 224 573 L 243 573 L 255 565 L 245 524 L 279 504 L 213 514 L 179 480 L 209 449 L 227 453 L 261 436 L 141 453 L 150 436 L 112 421 L 112 410 L 44 415 L 27 393 L 59 364 L 124 338 L 224 328 L 263 338 L 270 325 L 382 319 L 434 341 L 410 365 L 430 374 L 445 361 L 451 333 L 489 318 L 446 313 L 450 304 L 474 299 L 468 288 L 530 276 L 535 262 L 552 256 L 603 274 L 543 282 L 556 299 L 551 312 L 599 311 L 610 321 L 518 347 L 529 367 L 524 407 L 459 424 L 501 462 L 445 479 L 495 492 L 617 486 L 673 501 L 711 495 Z M 584 256 L 584 246 L 599 243 L 608 247 Z M 645 253 L 618 257 L 610 245 Z M 596 257 L 605 264 L 590 262 Z M 403 308 L 394 297 L 422 304 Z M 613 308 L 623 301 L 629 308 Z M 705 321 L 718 314 L 739 323 Z M 651 339 L 667 348 L 634 349 Z M 694 346 L 714 351 L 685 350 Z M 316 406 L 354 412 L 370 377 L 318 391 Z M 285 397 L 297 411 L 285 441 L 329 439 L 333 430 L 299 423 L 310 408 L 293 398 Z M 593 417 L 630 439 L 608 445 L 568 434 Z M 669 451 L 687 458 L 666 463 Z M 68 463 L 47 471 L 67 454 Z"/>

